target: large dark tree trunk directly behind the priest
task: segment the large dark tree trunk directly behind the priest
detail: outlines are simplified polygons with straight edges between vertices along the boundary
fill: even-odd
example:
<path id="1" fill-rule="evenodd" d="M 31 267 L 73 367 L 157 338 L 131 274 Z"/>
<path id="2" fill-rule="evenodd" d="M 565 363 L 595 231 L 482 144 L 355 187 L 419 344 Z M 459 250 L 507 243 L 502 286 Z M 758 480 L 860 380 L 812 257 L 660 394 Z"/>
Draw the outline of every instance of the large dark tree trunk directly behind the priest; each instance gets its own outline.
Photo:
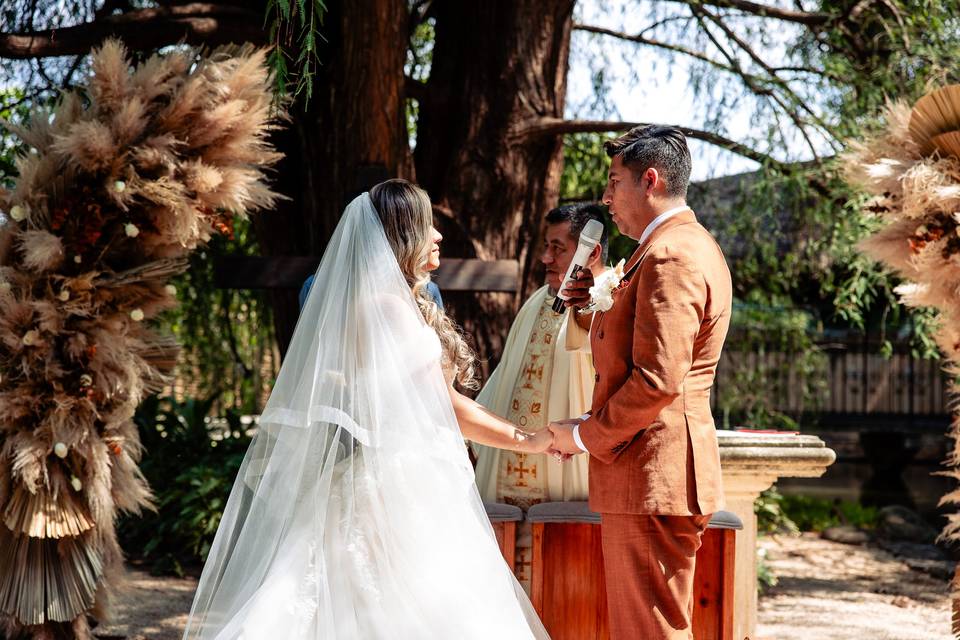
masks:
<path id="1" fill-rule="evenodd" d="M 417 177 L 450 216 L 438 221 L 448 256 L 516 258 L 519 298 L 447 296 L 492 366 L 518 303 L 542 282 L 544 214 L 556 206 L 559 136 L 531 135 L 563 116 L 574 0 L 435 5 L 433 65 L 420 104 Z M 489 368 L 487 370 L 489 372 Z"/>

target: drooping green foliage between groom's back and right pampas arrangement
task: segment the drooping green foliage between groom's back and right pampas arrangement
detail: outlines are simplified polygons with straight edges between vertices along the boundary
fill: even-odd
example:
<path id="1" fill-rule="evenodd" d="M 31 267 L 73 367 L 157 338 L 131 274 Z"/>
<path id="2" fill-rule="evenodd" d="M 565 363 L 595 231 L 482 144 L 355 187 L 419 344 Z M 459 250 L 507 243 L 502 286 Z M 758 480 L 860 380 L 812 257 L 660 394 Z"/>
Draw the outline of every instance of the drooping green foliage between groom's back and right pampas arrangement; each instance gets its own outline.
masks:
<path id="1" fill-rule="evenodd" d="M 901 305 L 894 292 L 901 280 L 858 249 L 879 221 L 864 213 L 863 197 L 841 180 L 836 162 L 733 180 L 736 196 L 708 198 L 706 206 L 732 213 L 711 220 L 711 231 L 727 250 L 736 296 L 803 309 L 817 333 L 831 326 L 879 333 L 890 353 L 892 332 L 909 339 L 915 356 L 937 356 L 933 312 Z"/>

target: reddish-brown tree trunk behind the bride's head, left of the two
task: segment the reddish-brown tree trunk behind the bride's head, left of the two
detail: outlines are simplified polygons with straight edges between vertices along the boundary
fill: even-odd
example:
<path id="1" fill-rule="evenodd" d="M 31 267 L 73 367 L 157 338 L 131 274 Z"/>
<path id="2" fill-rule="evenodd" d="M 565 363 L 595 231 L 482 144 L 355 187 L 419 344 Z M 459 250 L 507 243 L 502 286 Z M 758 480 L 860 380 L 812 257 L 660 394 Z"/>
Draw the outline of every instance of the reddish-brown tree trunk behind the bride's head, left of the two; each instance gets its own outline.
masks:
<path id="1" fill-rule="evenodd" d="M 404 0 L 328 1 L 314 95 L 278 134 L 277 188 L 291 199 L 257 219 L 265 255 L 323 254 L 347 203 L 385 177 L 412 177 L 404 74 Z M 272 294 L 281 351 L 293 336 L 295 291 Z"/>

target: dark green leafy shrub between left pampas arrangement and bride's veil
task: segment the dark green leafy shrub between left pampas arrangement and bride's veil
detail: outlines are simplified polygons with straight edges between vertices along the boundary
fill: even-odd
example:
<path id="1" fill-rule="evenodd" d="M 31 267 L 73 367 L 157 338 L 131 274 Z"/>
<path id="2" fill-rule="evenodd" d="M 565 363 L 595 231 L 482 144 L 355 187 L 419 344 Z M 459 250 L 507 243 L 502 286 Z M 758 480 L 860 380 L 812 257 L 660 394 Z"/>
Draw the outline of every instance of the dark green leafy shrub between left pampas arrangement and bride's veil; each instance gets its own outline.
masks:
<path id="1" fill-rule="evenodd" d="M 157 573 L 183 575 L 185 565 L 206 558 L 250 441 L 235 412 L 225 427 L 211 427 L 214 400 L 152 397 L 134 418 L 146 450 L 140 468 L 157 511 L 124 517 L 118 532 L 127 553 Z"/>

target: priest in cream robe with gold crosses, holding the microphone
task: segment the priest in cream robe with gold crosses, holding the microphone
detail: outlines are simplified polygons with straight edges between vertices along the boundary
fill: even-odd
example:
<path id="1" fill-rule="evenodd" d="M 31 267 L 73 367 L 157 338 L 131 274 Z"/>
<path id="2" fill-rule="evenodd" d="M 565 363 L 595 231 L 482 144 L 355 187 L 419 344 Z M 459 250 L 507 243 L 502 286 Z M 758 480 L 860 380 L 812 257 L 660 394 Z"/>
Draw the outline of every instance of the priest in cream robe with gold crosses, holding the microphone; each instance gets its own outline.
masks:
<path id="1" fill-rule="evenodd" d="M 604 232 L 584 266 L 593 273 L 603 272 L 607 259 L 603 209 L 593 203 L 577 203 L 551 210 L 540 256 L 547 283 L 521 307 L 500 364 L 477 396 L 480 404 L 528 431 L 546 429 L 552 420 L 579 416 L 590 409 L 594 383 L 589 340 L 592 315 L 576 310 L 558 314 L 551 308 L 588 220 L 604 223 Z M 538 502 L 587 499 L 586 456 L 558 462 L 547 454 L 474 446 L 477 484 L 484 501 L 504 502 L 526 511 Z M 530 525 L 521 523 L 517 579 L 528 591 L 531 546 Z"/>

